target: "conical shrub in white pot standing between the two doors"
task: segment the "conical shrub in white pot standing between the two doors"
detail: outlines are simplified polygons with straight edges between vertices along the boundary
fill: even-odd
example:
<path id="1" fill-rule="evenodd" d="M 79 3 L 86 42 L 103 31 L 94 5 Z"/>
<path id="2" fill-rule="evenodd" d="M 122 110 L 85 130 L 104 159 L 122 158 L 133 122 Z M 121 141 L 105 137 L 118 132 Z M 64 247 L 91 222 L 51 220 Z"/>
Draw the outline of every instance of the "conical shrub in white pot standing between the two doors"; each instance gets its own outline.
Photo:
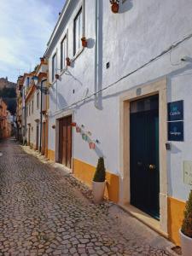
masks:
<path id="1" fill-rule="evenodd" d="M 93 189 L 93 201 L 97 204 L 103 200 L 105 192 L 105 165 L 103 157 L 100 157 L 96 166 L 96 172 L 93 177 L 92 189 Z"/>

